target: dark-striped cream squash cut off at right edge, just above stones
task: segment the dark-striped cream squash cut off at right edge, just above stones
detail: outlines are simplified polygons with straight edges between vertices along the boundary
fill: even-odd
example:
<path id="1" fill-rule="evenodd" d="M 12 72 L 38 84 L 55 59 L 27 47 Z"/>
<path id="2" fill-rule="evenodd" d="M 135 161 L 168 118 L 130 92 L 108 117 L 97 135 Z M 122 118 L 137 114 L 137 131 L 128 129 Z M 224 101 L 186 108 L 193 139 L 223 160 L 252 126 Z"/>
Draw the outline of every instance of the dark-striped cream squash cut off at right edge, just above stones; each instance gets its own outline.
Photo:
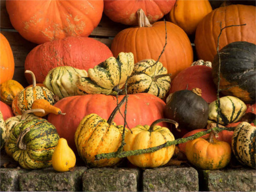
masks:
<path id="1" fill-rule="evenodd" d="M 232 151 L 234 156 L 244 165 L 255 168 L 256 160 L 256 127 L 248 122 L 241 122 L 232 136 Z"/>

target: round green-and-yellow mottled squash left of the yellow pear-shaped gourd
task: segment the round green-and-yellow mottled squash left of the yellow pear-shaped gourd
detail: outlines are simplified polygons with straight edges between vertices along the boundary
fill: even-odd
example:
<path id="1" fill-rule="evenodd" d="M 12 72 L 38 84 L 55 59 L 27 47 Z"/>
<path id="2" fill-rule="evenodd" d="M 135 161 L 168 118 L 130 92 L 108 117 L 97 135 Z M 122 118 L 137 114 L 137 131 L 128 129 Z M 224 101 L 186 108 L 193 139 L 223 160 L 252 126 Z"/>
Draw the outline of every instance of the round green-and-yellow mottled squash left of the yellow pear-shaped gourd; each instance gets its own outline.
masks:
<path id="1" fill-rule="evenodd" d="M 13 127 L 6 148 L 23 168 L 38 169 L 51 166 L 58 139 L 53 124 L 45 119 L 32 119 Z"/>

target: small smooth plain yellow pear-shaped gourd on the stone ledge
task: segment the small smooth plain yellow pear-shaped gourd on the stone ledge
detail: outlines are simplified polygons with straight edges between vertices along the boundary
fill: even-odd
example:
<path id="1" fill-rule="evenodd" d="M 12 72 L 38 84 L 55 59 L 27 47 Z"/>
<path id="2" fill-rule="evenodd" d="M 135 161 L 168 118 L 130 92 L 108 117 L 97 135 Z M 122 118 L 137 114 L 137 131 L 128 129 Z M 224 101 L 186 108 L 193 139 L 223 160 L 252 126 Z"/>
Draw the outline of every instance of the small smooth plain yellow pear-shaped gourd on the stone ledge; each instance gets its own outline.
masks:
<path id="1" fill-rule="evenodd" d="M 58 144 L 52 155 L 52 166 L 58 172 L 67 172 L 76 164 L 76 156 L 64 138 L 58 140 Z"/>

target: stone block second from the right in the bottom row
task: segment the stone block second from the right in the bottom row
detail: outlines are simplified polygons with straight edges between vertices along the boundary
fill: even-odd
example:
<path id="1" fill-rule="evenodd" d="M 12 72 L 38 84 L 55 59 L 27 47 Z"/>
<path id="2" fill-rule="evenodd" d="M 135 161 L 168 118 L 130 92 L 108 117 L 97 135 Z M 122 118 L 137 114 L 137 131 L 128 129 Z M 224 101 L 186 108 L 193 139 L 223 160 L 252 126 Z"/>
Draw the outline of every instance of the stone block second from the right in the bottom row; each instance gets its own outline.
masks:
<path id="1" fill-rule="evenodd" d="M 198 173 L 193 167 L 166 166 L 146 169 L 143 191 L 198 191 Z"/>

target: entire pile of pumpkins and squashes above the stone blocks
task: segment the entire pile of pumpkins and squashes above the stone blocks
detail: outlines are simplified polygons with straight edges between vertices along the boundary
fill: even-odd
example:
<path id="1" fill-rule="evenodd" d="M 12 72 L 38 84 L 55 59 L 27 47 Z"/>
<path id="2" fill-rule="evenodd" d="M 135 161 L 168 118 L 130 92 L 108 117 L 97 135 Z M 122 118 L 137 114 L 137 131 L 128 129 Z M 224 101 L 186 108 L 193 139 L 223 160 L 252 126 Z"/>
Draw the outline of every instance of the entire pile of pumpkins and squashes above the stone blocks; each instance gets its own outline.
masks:
<path id="1" fill-rule="evenodd" d="M 169 126 L 157 119 L 167 117 L 177 121 L 181 133 L 174 129 L 172 132 L 176 138 L 193 135 L 212 122 L 226 126 L 241 119 L 246 113 L 245 103 L 255 103 L 254 7 L 230 5 L 212 11 L 208 1 L 153 2 L 158 9 L 152 8 L 150 1 L 88 0 L 83 1 L 82 6 L 78 1 L 55 1 L 50 5 L 46 1 L 22 4 L 7 1 L 13 27 L 24 38 L 40 44 L 26 58 L 26 78 L 33 84 L 24 89 L 17 81 L 11 80 L 13 55 L 8 41 L 1 34 L 1 44 L 5 39 L 6 48 L 3 50 L 6 58 L 3 59 L 9 60 L 10 70 L 8 73 L 1 70 L 1 148 L 5 146 L 8 155 L 24 168 L 53 164 L 56 170 L 66 171 L 75 165 L 73 150 L 87 166 L 112 166 L 121 159 L 95 161 L 94 157 L 116 152 L 123 133 L 125 151 L 175 140 L 166 128 Z M 66 9 L 70 4 L 80 11 Z M 123 15 L 124 11 L 117 9 L 120 4 L 134 10 Z M 33 11 L 41 15 L 33 17 L 33 12 L 25 15 L 28 6 L 35 7 Z M 19 7 L 18 12 L 15 7 Z M 57 10 L 54 15 L 46 14 L 50 7 Z M 191 15 L 187 14 L 187 8 Z M 97 27 L 103 10 L 114 22 L 138 25 L 120 31 L 112 42 L 111 51 L 101 42 L 87 37 Z M 172 23 L 156 22 L 168 12 Z M 222 27 L 246 23 L 246 26 L 227 28 L 225 35 L 221 35 L 221 66 L 216 55 L 220 31 L 218 20 L 225 21 Z M 188 35 L 195 36 L 197 55 L 201 59 L 196 63 L 193 63 Z M 1 67 L 2 63 L 1 57 Z M 223 94 L 220 100 L 216 96 L 217 86 Z M 129 94 L 127 114 L 124 113 L 126 107 L 121 106 L 126 98 L 121 94 L 126 91 Z M 167 93 L 170 95 L 166 104 Z M 16 116 L 11 117 L 12 113 Z M 126 116 L 126 122 L 123 116 Z M 160 122 L 161 126 L 156 125 Z M 130 127 L 132 132 L 123 125 Z M 189 132 L 191 130 L 195 131 Z M 255 126 L 242 122 L 234 133 L 222 131 L 219 134 L 222 141 L 211 133 L 205 137 L 209 137 L 210 143 L 200 138 L 180 145 L 180 148 L 195 166 L 218 169 L 229 162 L 231 144 L 239 161 L 255 167 L 255 132 Z M 246 139 L 249 142 L 243 143 Z M 197 143 L 202 148 L 196 148 Z M 224 153 L 218 157 L 212 153 L 211 162 L 207 162 L 205 153 L 212 143 L 219 144 Z M 161 166 L 172 158 L 174 147 L 128 159 L 140 167 Z M 202 151 L 204 156 L 195 159 L 195 154 Z M 63 160 L 60 162 L 59 156 L 65 152 L 70 155 L 64 156 L 71 157 L 68 164 Z"/>

